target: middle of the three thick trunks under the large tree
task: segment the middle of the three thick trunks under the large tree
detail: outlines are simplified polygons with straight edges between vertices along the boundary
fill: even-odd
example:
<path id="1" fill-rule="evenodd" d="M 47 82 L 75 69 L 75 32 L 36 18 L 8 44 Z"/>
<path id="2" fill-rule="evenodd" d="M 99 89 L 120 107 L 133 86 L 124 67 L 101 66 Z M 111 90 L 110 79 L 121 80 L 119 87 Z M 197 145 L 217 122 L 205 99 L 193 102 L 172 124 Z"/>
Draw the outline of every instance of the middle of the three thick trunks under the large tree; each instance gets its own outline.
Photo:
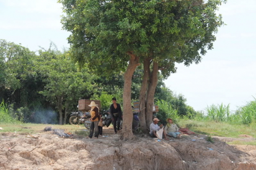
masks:
<path id="1" fill-rule="evenodd" d="M 139 97 L 139 107 L 140 107 L 140 127 L 143 133 L 146 133 L 147 126 L 146 126 L 146 109 L 145 109 L 145 98 L 146 98 L 146 90 L 147 90 L 147 79 L 149 76 L 150 71 L 150 58 L 145 58 L 143 61 L 143 78 L 142 78 L 142 85 L 140 88 L 140 97 Z"/>

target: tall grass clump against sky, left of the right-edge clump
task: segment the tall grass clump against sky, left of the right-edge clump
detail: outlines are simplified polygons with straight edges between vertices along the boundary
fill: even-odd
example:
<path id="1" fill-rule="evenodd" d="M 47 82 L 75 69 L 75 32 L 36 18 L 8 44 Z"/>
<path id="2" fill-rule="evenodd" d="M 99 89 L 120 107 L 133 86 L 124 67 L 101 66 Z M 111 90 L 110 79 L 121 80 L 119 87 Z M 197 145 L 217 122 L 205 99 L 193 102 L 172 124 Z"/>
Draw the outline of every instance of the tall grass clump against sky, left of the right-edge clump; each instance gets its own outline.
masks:
<path id="1" fill-rule="evenodd" d="M 231 112 L 229 110 L 229 104 L 223 105 L 214 105 L 212 104 L 210 107 L 207 106 L 207 119 L 214 120 L 217 122 L 220 121 L 230 121 L 231 120 Z"/>

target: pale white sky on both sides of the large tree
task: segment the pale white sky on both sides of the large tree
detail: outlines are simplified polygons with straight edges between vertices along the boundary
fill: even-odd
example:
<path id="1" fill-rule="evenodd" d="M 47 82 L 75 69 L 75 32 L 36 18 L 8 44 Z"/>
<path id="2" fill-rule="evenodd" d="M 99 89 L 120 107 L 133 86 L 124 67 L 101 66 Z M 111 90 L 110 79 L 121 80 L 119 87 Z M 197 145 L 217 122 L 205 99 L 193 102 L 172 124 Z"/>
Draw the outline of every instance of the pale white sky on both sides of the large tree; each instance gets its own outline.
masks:
<path id="1" fill-rule="evenodd" d="M 177 65 L 167 87 L 183 94 L 195 110 L 230 103 L 235 110 L 256 97 L 256 0 L 228 0 L 220 7 L 226 26 L 219 28 L 214 49 L 198 65 Z M 61 29 L 57 0 L 0 0 L 0 39 L 21 43 L 32 51 L 53 41 L 69 47 L 70 33 Z"/>

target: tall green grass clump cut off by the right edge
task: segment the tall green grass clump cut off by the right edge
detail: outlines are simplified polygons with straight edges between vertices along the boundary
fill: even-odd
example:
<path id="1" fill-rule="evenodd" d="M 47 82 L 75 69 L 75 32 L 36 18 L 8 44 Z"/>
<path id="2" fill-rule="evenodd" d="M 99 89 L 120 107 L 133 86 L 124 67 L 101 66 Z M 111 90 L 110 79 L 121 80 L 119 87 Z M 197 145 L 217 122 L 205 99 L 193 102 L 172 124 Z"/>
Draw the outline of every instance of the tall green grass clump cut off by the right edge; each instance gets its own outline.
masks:
<path id="1" fill-rule="evenodd" d="M 240 107 L 237 111 L 237 115 L 240 116 L 243 124 L 250 124 L 256 121 L 256 99 Z"/>

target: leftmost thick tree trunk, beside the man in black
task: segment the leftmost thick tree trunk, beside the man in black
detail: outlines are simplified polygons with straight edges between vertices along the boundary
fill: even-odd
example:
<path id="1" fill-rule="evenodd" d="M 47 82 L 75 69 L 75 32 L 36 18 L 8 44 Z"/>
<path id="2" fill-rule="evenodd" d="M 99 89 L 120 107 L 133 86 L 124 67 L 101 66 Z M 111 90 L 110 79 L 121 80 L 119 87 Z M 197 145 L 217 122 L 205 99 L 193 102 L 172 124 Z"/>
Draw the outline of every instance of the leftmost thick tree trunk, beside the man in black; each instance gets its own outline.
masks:
<path id="1" fill-rule="evenodd" d="M 123 90 L 123 133 L 121 139 L 126 141 L 133 137 L 132 133 L 132 108 L 131 108 L 131 78 L 132 74 L 139 65 L 139 57 L 132 52 L 128 52 L 130 61 L 124 74 L 124 90 Z"/>

